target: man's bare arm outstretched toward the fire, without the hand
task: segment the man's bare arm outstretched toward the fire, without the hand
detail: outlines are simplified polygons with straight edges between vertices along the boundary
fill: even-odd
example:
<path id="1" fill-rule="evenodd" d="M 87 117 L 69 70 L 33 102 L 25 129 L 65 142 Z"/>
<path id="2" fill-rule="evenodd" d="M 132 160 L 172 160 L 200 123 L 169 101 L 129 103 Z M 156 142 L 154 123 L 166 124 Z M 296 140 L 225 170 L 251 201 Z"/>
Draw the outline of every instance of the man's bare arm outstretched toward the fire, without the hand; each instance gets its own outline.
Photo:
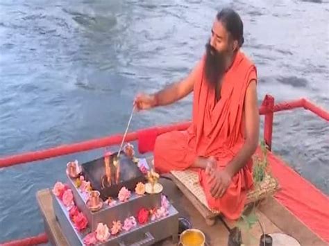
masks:
<path id="1" fill-rule="evenodd" d="M 169 105 L 190 94 L 193 91 L 194 82 L 197 74 L 199 73 L 199 69 L 201 69 L 201 62 L 194 67 L 187 78 L 180 80 L 180 82 L 175 82 L 165 87 L 165 89 L 153 94 L 152 96 L 155 101 L 154 106 Z"/>

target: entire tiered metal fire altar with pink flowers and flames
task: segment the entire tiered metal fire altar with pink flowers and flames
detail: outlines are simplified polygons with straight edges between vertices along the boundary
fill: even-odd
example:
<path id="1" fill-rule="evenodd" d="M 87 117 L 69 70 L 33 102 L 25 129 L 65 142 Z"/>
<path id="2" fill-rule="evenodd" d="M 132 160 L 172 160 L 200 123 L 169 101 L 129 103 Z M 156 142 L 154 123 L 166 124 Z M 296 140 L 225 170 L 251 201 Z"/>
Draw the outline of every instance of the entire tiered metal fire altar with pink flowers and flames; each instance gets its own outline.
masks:
<path id="1" fill-rule="evenodd" d="M 178 211 L 158 174 L 128 145 L 81 166 L 67 164 L 67 184 L 53 187 L 53 209 L 70 245 L 153 245 L 178 240 Z M 148 170 L 149 169 L 149 170 Z"/>

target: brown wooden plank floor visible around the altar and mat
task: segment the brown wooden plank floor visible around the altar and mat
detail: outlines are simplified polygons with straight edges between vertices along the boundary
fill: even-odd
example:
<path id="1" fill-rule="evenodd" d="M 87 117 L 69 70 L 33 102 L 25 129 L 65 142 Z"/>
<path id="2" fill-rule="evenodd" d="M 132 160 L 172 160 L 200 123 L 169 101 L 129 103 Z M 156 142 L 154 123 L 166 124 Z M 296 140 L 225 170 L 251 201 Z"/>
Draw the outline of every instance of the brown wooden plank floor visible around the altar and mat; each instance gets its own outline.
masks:
<path id="1" fill-rule="evenodd" d="M 207 238 L 208 245 L 227 245 L 228 229 L 223 225 L 221 220 L 217 220 L 212 227 L 205 224 L 205 220 L 197 211 L 187 198 L 179 191 L 173 182 L 167 179 L 160 179 L 160 183 L 164 186 L 164 193 L 169 196 L 169 200 L 174 204 L 174 207 L 180 213 L 180 216 L 188 218 L 192 222 L 192 226 L 201 229 Z M 56 217 L 53 213 L 51 191 L 45 189 L 37 193 L 37 201 L 39 203 L 40 211 L 44 218 L 44 227 L 53 245 L 68 245 L 65 236 L 62 234 Z M 267 228 L 268 233 L 279 232 L 280 229 L 276 227 L 261 211 L 258 211 L 260 220 Z M 258 225 L 255 225 L 248 233 L 242 232 L 245 240 L 245 245 L 259 245 L 259 238 L 261 230 Z M 174 245 L 171 240 L 165 240 L 156 245 Z"/>

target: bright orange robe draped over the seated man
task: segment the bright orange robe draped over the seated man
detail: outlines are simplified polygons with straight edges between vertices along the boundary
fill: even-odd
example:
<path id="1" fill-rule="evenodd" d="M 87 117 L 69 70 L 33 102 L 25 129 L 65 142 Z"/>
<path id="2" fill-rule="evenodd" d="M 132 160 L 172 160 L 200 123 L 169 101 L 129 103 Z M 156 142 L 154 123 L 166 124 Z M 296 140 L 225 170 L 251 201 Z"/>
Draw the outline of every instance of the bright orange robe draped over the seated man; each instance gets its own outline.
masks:
<path id="1" fill-rule="evenodd" d="M 244 97 L 249 82 L 257 78 L 255 66 L 239 51 L 223 77 L 221 99 L 216 103 L 215 91 L 203 76 L 203 64 L 204 58 L 194 84 L 192 125 L 187 131 L 162 134 L 155 141 L 154 163 L 160 173 L 185 170 L 198 156 L 214 156 L 217 168 L 223 169 L 244 143 Z M 252 161 L 239 170 L 223 197 L 216 200 L 210 194 L 204 170 L 199 170 L 199 177 L 208 206 L 228 219 L 239 218 L 246 191 L 253 185 Z"/>

